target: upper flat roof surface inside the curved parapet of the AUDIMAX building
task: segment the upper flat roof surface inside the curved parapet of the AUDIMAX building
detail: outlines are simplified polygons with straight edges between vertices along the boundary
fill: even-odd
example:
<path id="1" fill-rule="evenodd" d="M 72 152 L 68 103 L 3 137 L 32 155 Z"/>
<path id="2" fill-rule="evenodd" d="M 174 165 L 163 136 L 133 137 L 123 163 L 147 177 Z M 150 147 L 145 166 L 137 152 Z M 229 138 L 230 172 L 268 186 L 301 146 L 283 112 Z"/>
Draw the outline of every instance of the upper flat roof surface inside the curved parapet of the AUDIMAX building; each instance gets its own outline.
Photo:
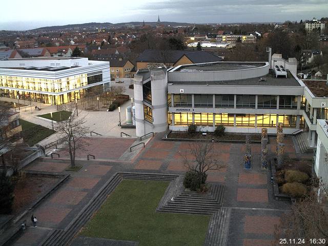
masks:
<path id="1" fill-rule="evenodd" d="M 263 66 L 265 66 L 265 63 L 250 63 L 250 62 L 229 63 L 228 61 L 223 61 L 223 62 L 218 62 L 218 63 L 182 65 L 180 68 L 178 68 L 172 72 L 233 71 L 233 70 L 260 68 Z"/>

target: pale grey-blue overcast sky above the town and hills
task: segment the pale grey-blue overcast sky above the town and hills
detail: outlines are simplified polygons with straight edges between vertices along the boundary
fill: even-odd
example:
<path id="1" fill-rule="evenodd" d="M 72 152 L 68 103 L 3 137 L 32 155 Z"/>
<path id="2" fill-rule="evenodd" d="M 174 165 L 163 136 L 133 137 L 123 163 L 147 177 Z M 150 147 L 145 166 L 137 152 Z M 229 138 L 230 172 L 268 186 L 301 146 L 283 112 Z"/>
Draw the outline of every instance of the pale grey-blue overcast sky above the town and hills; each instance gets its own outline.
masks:
<path id="1" fill-rule="evenodd" d="M 327 0 L 125 0 L 4 1 L 0 30 L 88 22 L 284 22 L 328 16 Z"/>

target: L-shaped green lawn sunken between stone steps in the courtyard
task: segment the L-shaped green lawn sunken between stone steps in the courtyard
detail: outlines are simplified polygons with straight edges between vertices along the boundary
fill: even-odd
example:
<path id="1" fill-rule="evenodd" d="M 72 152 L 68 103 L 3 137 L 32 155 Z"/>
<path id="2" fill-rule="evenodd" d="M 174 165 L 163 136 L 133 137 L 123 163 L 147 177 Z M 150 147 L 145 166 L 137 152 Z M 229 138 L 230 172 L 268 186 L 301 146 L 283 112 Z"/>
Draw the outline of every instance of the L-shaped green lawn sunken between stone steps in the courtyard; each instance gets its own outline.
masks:
<path id="1" fill-rule="evenodd" d="M 139 246 L 203 245 L 210 215 L 156 212 L 168 184 L 122 180 L 81 234 L 138 241 Z"/>

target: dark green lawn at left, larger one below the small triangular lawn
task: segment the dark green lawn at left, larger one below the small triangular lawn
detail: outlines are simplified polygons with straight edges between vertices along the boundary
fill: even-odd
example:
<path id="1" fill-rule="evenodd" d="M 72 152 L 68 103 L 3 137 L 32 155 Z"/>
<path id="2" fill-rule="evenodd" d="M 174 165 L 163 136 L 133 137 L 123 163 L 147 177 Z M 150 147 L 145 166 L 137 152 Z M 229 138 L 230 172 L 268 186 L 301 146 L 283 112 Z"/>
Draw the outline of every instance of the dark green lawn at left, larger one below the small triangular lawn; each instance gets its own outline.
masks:
<path id="1" fill-rule="evenodd" d="M 28 144 L 29 146 L 33 146 L 39 141 L 55 133 L 55 131 L 52 131 L 49 128 L 36 125 L 24 119 L 20 119 L 20 125 L 22 125 L 22 134 L 24 142 L 26 142 L 26 144 Z"/>

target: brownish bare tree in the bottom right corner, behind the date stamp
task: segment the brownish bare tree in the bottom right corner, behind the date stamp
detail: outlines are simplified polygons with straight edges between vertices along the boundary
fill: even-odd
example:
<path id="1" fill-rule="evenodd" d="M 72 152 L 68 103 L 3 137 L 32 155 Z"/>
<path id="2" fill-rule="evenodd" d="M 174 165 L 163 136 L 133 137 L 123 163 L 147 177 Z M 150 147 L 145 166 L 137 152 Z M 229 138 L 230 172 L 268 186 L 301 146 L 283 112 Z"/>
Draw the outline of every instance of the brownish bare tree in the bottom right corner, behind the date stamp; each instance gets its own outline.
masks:
<path id="1" fill-rule="evenodd" d="M 326 240 L 325 243 L 328 242 L 328 209 L 326 207 L 328 193 L 324 186 L 321 188 L 324 199 L 319 199 L 317 192 L 311 191 L 302 200 L 292 205 L 291 212 L 282 216 L 280 225 L 275 231 L 275 239 L 278 243 L 280 238 L 304 238 L 305 242 L 302 245 L 308 246 L 316 245 L 314 242 L 311 243 L 311 238 L 321 238 Z M 296 245 L 296 243 L 289 245 Z"/>

